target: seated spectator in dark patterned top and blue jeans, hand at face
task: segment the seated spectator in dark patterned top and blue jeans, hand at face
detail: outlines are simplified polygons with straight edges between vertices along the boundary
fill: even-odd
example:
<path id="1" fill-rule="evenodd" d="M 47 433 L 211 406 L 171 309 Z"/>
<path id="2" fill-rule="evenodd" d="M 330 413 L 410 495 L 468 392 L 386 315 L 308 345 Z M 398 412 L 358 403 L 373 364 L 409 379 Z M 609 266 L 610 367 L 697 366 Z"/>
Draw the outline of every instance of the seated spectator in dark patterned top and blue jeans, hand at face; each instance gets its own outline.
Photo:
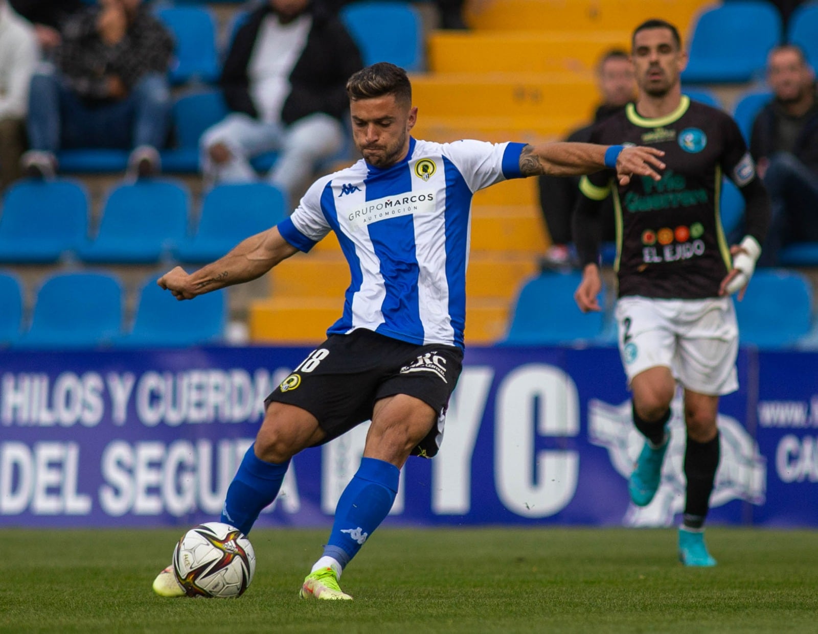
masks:
<path id="1" fill-rule="evenodd" d="M 29 176 L 53 176 L 62 148 L 132 149 L 131 177 L 160 169 L 168 133 L 173 39 L 142 0 L 99 0 L 71 18 L 55 65 L 29 94 Z"/>

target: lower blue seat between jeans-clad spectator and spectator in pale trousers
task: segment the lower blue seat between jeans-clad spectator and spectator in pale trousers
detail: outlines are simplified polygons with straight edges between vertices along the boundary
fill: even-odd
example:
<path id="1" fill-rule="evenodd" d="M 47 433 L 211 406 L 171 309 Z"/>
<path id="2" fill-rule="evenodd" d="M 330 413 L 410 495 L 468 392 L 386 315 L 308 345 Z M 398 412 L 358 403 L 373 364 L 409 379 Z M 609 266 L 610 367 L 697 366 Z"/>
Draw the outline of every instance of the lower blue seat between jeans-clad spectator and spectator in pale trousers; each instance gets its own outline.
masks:
<path id="1" fill-rule="evenodd" d="M 176 148 L 162 150 L 164 172 L 198 172 L 199 139 L 210 126 L 227 116 L 227 105 L 218 90 L 195 92 L 173 104 Z"/>

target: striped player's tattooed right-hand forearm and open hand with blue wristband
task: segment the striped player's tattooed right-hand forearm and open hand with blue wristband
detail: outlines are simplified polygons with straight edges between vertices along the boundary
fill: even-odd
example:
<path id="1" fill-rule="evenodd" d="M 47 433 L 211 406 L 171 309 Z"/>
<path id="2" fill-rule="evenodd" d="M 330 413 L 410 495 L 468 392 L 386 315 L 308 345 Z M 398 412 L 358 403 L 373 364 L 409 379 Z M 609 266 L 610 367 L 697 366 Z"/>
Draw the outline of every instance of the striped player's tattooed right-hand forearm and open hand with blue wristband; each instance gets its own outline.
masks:
<path id="1" fill-rule="evenodd" d="M 619 184 L 627 185 L 631 176 L 660 180 L 665 167 L 660 158 L 663 155 L 662 150 L 651 147 L 560 141 L 526 145 L 519 157 L 519 169 L 524 176 L 582 176 L 609 167 L 616 169 Z"/>

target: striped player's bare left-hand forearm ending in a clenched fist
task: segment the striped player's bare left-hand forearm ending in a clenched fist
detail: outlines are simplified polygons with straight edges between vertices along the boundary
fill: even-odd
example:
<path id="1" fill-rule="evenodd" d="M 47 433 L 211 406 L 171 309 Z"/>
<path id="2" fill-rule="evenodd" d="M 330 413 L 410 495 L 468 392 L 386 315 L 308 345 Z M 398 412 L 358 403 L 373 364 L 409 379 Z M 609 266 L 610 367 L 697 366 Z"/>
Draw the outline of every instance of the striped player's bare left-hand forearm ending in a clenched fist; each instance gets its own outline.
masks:
<path id="1" fill-rule="evenodd" d="M 193 299 L 205 292 L 256 279 L 295 252 L 298 249 L 281 237 L 277 227 L 272 227 L 242 240 L 227 255 L 195 273 L 188 275 L 177 266 L 156 284 L 172 292 L 178 300 Z"/>

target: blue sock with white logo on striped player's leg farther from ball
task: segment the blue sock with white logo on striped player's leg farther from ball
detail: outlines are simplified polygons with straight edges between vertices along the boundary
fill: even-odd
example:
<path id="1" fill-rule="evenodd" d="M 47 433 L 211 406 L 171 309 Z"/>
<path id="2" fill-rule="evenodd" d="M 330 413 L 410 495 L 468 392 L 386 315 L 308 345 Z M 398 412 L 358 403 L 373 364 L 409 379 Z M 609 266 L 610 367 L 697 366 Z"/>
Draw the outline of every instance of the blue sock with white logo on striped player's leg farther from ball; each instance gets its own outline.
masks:
<path id="1" fill-rule="evenodd" d="M 335 507 L 335 523 L 324 556 L 338 561 L 343 569 L 357 555 L 366 538 L 389 515 L 400 475 L 400 469 L 389 462 L 361 459 L 361 467 Z"/>

